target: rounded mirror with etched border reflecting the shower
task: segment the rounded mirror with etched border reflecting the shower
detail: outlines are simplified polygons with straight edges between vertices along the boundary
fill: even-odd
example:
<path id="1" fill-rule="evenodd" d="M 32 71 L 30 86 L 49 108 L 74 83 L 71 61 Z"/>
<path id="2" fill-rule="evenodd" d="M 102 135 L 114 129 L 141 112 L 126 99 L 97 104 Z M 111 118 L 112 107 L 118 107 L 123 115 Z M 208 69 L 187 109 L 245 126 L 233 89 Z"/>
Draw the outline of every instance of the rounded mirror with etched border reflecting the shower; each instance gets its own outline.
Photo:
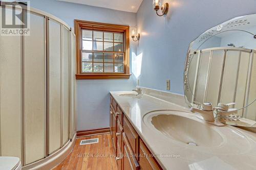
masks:
<path id="1" fill-rule="evenodd" d="M 236 110 L 216 116 L 234 126 L 256 127 L 256 14 L 237 17 L 207 30 L 190 43 L 184 92 L 190 106 L 210 102 Z M 234 104 L 231 104 L 234 103 Z"/>

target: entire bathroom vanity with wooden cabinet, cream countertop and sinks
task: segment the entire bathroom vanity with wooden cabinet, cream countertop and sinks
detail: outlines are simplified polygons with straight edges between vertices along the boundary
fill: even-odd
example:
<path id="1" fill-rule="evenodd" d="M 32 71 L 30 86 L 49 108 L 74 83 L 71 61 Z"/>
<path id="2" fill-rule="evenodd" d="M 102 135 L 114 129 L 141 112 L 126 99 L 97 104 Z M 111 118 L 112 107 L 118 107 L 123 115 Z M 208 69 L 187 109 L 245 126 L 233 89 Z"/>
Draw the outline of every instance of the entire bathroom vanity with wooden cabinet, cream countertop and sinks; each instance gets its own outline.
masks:
<path id="1" fill-rule="evenodd" d="M 110 126 L 118 169 L 255 167 L 255 133 L 206 123 L 189 112 L 182 95 L 143 91 L 111 92 Z"/>

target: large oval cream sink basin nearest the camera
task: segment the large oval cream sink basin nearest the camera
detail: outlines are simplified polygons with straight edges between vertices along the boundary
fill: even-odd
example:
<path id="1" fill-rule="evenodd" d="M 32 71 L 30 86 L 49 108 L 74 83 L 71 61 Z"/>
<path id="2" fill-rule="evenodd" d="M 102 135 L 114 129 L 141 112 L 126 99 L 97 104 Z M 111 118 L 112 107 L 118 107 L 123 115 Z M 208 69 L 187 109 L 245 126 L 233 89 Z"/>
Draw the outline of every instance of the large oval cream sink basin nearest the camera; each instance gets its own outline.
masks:
<path id="1" fill-rule="evenodd" d="M 185 113 L 185 114 L 182 114 Z M 189 118 L 182 111 L 155 111 L 147 118 L 146 123 L 164 135 L 182 142 L 199 147 L 218 147 L 223 138 L 212 126 Z"/>

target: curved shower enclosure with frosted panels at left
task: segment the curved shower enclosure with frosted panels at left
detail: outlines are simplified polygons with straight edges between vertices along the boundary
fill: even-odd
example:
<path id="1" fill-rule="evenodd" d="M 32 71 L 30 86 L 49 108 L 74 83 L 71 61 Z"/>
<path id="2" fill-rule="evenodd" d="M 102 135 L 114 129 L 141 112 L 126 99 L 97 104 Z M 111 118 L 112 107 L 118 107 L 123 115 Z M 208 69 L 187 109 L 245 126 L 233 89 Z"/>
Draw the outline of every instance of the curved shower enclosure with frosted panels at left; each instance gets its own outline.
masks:
<path id="1" fill-rule="evenodd" d="M 74 144 L 75 35 L 55 16 L 26 13 L 30 35 L 0 36 L 0 153 L 19 157 L 24 169 L 47 169 Z"/>

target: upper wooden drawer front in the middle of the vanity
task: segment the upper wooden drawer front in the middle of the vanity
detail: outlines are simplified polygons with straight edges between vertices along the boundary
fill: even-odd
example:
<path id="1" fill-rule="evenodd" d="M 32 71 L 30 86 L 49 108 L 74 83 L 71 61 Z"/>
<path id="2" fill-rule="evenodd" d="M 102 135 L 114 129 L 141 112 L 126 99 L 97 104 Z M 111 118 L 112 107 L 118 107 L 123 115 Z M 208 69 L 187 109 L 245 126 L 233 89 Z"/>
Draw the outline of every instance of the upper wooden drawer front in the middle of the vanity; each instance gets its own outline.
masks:
<path id="1" fill-rule="evenodd" d="M 139 155 L 139 135 L 125 116 L 123 116 L 123 132 L 125 132 L 127 140 L 137 157 Z"/>

